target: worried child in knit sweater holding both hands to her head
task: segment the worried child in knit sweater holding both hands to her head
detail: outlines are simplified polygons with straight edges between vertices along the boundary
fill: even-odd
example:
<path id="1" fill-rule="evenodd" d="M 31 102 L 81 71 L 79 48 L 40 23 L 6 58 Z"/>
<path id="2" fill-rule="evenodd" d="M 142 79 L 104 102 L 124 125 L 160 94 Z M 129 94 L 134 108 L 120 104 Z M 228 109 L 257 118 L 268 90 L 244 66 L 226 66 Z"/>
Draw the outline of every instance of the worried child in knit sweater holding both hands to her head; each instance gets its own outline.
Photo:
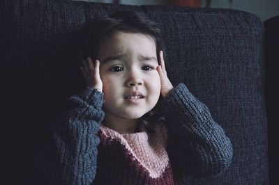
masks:
<path id="1" fill-rule="evenodd" d="M 229 167 L 223 129 L 185 84 L 169 81 L 157 24 L 121 11 L 83 35 L 86 88 L 53 125 L 54 147 L 40 160 L 47 183 L 186 184 Z"/>

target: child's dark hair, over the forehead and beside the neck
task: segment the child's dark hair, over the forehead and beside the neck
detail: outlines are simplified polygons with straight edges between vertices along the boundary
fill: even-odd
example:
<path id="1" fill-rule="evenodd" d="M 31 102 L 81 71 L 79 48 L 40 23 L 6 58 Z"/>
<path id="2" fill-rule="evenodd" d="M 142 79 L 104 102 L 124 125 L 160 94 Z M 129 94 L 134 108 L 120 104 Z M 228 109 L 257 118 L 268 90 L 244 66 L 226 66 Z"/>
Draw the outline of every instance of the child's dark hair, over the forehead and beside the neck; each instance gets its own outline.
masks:
<path id="1" fill-rule="evenodd" d="M 140 13 L 127 10 L 112 13 L 109 17 L 95 17 L 85 22 L 81 31 L 82 47 L 80 47 L 80 59 L 90 56 L 93 60 L 96 60 L 98 58 L 101 41 L 116 31 L 141 33 L 151 36 L 156 43 L 156 54 L 158 63 L 160 64 L 160 50 L 165 51 L 165 49 L 163 32 L 161 31 L 159 24 L 147 19 Z M 158 102 L 160 102 L 160 99 L 162 99 L 161 96 Z M 154 107 L 149 113 L 146 113 L 140 118 L 140 124 L 137 125 L 137 131 L 139 131 L 142 125 L 144 125 L 149 131 L 154 131 L 153 128 L 155 127 L 155 124 L 149 123 L 160 122 L 163 120 L 164 118 L 160 115 L 157 108 Z"/>

